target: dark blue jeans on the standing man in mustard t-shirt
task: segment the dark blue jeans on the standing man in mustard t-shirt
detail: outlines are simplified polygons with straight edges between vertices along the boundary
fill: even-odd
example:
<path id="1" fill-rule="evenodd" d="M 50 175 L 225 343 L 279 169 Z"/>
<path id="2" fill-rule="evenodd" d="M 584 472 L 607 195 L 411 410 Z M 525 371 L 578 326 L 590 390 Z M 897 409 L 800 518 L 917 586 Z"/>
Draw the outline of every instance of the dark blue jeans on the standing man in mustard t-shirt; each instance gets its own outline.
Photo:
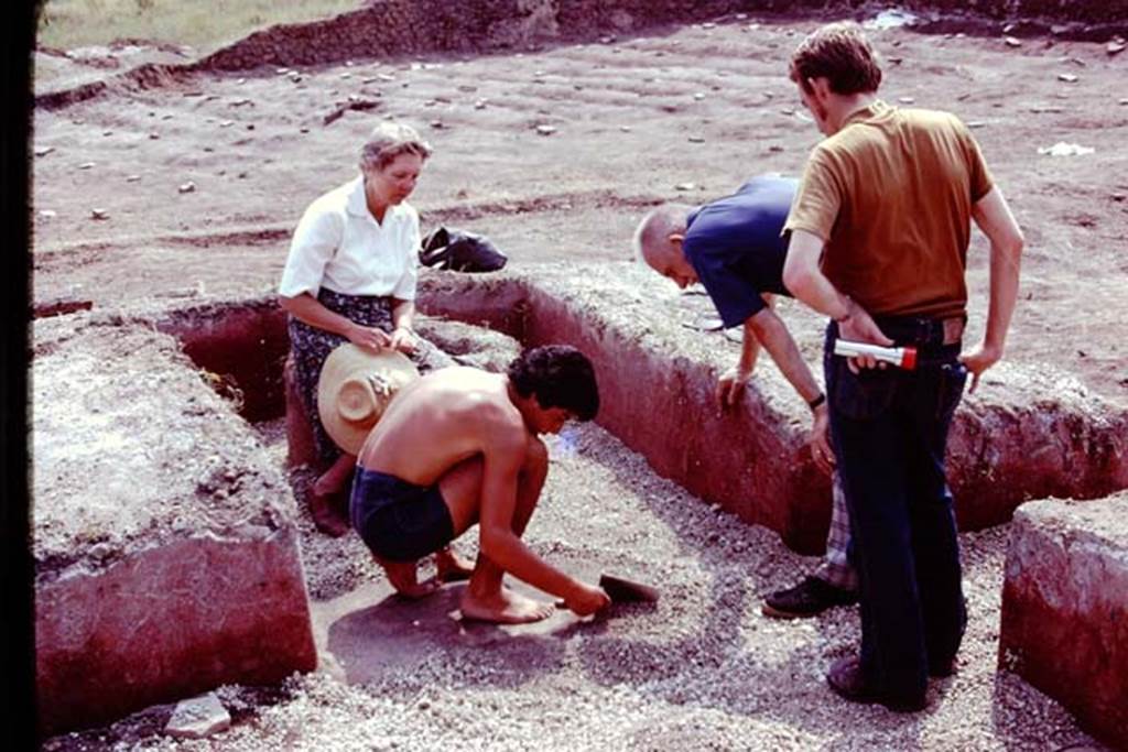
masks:
<path id="1" fill-rule="evenodd" d="M 834 322 L 823 369 L 858 574 L 863 675 L 874 691 L 914 698 L 929 665 L 954 658 L 967 623 L 944 451 L 968 374 L 960 343 L 943 343 L 940 321 L 878 324 L 898 345 L 917 347 L 915 371 L 851 373 L 834 355 Z"/>

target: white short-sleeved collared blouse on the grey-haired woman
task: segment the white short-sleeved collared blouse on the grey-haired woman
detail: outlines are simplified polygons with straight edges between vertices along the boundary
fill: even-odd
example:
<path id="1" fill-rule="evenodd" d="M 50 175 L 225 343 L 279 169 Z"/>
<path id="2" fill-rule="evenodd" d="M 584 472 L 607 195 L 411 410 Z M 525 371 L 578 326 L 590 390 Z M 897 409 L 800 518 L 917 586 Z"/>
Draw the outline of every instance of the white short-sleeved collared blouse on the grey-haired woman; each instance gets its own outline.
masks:
<path id="1" fill-rule="evenodd" d="M 317 298 L 324 286 L 349 295 L 415 300 L 420 218 L 408 204 L 388 206 L 376 221 L 358 177 L 306 210 L 290 242 L 279 293 Z"/>

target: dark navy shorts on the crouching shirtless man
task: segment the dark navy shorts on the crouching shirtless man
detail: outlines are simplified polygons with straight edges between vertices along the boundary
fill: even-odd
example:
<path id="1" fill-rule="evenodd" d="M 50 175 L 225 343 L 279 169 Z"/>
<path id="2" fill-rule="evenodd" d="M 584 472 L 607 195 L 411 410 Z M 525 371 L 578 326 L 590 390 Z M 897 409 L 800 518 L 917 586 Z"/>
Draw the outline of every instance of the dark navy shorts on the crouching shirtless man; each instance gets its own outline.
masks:
<path id="1" fill-rule="evenodd" d="M 415 561 L 455 538 L 455 523 L 438 484 L 423 488 L 359 467 L 349 510 L 353 528 L 382 559 Z"/>

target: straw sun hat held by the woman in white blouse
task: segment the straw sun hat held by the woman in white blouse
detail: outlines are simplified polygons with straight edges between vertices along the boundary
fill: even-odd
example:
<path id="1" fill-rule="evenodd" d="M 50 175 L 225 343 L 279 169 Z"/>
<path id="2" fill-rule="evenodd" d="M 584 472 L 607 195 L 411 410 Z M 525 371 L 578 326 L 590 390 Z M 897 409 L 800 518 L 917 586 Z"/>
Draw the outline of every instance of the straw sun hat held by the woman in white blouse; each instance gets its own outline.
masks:
<path id="1" fill-rule="evenodd" d="M 420 372 L 403 353 L 373 353 L 346 342 L 325 359 L 317 380 L 321 425 L 337 446 L 356 454 L 391 398 L 417 378 Z"/>

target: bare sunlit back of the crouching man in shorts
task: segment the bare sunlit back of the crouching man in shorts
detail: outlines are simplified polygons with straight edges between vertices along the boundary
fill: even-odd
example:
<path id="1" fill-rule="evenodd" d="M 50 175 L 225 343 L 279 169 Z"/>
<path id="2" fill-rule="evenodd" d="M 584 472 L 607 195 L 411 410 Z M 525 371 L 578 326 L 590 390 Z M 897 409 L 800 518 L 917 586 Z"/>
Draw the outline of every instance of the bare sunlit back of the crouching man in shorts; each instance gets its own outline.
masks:
<path id="1" fill-rule="evenodd" d="M 361 448 L 358 462 L 430 486 L 499 442 L 530 436 L 504 375 L 472 368 L 434 371 L 404 387 Z"/>

